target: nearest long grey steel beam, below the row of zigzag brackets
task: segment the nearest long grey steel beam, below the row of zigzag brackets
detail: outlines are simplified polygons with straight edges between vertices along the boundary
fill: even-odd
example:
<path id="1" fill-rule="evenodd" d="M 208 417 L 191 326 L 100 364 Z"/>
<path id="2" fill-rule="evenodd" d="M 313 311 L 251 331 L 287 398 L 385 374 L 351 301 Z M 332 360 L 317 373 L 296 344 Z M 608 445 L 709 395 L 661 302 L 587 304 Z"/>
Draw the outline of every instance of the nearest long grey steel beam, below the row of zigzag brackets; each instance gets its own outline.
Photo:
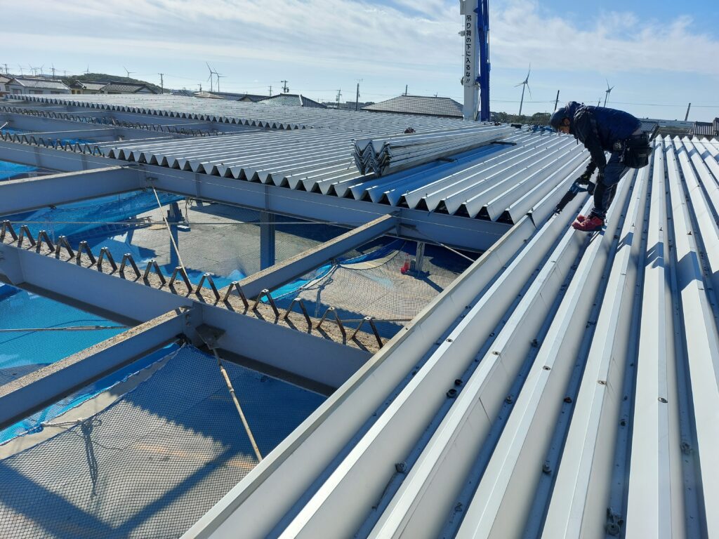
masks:
<path id="1" fill-rule="evenodd" d="M 219 347 L 324 387 L 339 387 L 370 357 L 367 351 L 203 303 L 196 295 L 158 290 L 35 248 L 0 244 L 0 275 L 12 285 L 118 321 L 145 322 L 175 308 L 192 308 L 193 326 L 204 322 L 225 331 Z M 184 284 L 178 286 L 184 290 Z"/>

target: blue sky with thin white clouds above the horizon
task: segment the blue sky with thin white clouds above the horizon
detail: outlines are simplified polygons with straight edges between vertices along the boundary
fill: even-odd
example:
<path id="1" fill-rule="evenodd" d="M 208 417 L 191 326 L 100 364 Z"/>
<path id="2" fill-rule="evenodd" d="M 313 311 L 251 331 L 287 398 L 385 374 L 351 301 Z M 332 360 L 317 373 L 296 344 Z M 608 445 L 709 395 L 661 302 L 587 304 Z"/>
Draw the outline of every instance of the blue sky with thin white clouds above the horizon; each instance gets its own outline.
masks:
<path id="1" fill-rule="evenodd" d="M 166 88 L 463 100 L 457 0 L 0 0 L 0 69 L 125 75 Z M 604 101 L 635 116 L 719 116 L 715 0 L 490 0 L 490 105 Z M 608 81 L 608 82 L 607 82 Z M 216 89 L 216 83 L 214 83 Z"/>

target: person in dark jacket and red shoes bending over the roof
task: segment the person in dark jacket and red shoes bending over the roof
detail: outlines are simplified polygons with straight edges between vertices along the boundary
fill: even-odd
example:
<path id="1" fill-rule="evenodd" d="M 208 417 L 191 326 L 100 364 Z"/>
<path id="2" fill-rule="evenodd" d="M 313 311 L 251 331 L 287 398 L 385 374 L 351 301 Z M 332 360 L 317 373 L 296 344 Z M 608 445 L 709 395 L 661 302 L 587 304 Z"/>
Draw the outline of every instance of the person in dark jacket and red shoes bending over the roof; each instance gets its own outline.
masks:
<path id="1" fill-rule="evenodd" d="M 594 208 L 588 216 L 577 216 L 574 229 L 593 232 L 602 229 L 607 210 L 617 191 L 617 184 L 629 168 L 641 168 L 649 163 L 649 139 L 641 130 L 641 121 L 628 112 L 587 106 L 569 101 L 549 119 L 560 133 L 573 134 L 590 152 L 590 162 L 574 185 L 587 185 L 594 190 Z M 607 161 L 604 152 L 611 152 Z M 595 170 L 595 185 L 590 183 Z M 561 208 L 558 208 L 558 210 Z"/>

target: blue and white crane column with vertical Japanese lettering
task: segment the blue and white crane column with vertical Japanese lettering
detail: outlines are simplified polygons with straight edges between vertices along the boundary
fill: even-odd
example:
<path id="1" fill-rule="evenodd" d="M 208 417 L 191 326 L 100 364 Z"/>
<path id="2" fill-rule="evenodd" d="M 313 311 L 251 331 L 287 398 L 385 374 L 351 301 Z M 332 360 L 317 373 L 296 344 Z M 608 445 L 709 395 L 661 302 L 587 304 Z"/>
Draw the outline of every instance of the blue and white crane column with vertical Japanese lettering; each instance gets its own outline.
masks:
<path id="1" fill-rule="evenodd" d="M 460 0 L 464 17 L 464 106 L 465 120 L 490 119 L 490 17 L 489 0 Z M 481 103 L 480 103 L 481 99 Z"/>

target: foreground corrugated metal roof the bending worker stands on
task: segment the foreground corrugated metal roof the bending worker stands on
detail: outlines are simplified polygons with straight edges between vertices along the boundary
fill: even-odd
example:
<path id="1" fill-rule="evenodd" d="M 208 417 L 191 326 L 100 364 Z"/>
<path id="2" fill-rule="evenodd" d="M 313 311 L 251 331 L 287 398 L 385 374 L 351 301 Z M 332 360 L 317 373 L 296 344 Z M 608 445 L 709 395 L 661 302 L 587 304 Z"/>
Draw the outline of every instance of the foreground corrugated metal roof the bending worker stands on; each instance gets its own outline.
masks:
<path id="1" fill-rule="evenodd" d="M 186 538 L 719 536 L 718 155 L 541 203 Z"/>

